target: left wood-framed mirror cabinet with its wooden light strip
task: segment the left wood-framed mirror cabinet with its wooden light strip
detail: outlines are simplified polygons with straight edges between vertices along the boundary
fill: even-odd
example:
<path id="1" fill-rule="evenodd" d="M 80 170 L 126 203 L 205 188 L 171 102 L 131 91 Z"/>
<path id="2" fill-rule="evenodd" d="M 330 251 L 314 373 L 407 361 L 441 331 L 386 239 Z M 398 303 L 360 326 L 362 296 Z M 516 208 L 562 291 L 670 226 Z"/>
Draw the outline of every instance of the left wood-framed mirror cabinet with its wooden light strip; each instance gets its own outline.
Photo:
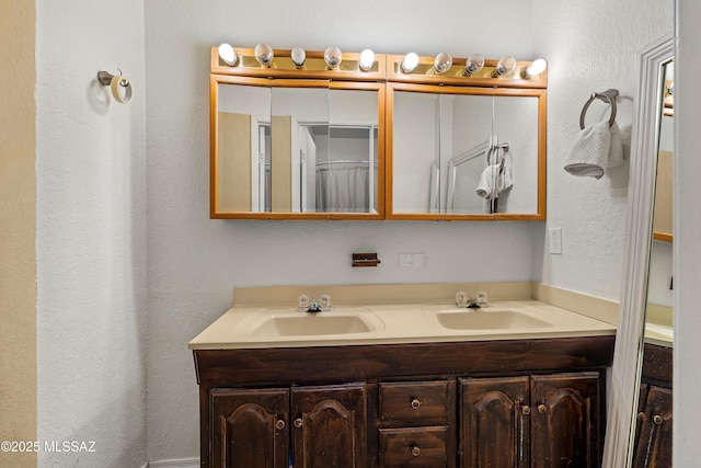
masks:
<path id="1" fill-rule="evenodd" d="M 211 218 L 384 217 L 382 56 L 361 72 L 357 54 L 338 70 L 323 53 L 296 67 L 275 50 L 269 68 L 251 49 L 238 67 L 211 54 Z"/>

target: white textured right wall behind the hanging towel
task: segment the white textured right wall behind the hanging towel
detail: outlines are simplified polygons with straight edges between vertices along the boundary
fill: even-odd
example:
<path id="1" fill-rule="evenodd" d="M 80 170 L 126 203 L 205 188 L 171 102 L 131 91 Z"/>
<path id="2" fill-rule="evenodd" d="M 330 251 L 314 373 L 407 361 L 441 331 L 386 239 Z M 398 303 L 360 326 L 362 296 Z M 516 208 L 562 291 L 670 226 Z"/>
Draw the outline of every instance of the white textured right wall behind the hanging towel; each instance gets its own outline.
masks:
<path id="1" fill-rule="evenodd" d="M 620 91 L 617 122 L 630 135 L 637 50 L 673 31 L 673 0 L 533 0 L 535 55 L 548 59 L 548 221 L 533 236 L 533 278 L 618 299 L 627 221 L 629 164 L 600 180 L 563 169 L 589 95 Z M 587 124 L 608 118 L 596 101 Z M 562 255 L 547 229 L 562 228 Z"/>

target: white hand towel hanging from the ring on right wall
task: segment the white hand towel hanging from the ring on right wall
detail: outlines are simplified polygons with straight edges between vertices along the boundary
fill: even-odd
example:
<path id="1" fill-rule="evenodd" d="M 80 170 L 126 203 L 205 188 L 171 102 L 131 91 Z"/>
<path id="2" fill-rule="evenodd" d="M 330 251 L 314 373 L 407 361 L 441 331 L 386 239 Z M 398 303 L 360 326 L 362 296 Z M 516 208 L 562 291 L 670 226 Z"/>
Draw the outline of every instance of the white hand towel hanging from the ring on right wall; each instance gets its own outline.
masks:
<path id="1" fill-rule="evenodd" d="M 573 175 L 601 179 L 609 162 L 611 133 L 609 122 L 586 127 L 577 134 L 565 171 Z"/>

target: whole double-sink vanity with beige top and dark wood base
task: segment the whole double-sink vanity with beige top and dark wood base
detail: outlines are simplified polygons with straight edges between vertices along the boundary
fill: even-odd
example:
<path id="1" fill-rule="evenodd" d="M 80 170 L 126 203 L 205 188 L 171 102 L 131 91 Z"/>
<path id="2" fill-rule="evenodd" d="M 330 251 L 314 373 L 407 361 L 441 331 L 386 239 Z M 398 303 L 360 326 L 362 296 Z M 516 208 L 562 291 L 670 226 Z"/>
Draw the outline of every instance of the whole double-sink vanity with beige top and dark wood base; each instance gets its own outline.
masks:
<path id="1" fill-rule="evenodd" d="M 489 300 L 457 307 L 460 290 Z M 189 343 L 202 466 L 600 466 L 616 327 L 537 292 L 238 288 Z M 298 310 L 302 294 L 331 309 Z"/>

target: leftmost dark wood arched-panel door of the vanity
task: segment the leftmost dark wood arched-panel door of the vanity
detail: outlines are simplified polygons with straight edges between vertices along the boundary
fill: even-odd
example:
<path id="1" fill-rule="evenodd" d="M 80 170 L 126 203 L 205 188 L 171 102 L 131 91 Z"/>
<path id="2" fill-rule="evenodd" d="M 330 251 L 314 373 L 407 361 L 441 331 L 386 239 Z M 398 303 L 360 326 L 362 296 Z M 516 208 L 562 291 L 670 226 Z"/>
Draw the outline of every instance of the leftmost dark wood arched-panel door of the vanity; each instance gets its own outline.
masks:
<path id="1" fill-rule="evenodd" d="M 287 468 L 288 389 L 214 389 L 209 408 L 212 467 Z"/>

